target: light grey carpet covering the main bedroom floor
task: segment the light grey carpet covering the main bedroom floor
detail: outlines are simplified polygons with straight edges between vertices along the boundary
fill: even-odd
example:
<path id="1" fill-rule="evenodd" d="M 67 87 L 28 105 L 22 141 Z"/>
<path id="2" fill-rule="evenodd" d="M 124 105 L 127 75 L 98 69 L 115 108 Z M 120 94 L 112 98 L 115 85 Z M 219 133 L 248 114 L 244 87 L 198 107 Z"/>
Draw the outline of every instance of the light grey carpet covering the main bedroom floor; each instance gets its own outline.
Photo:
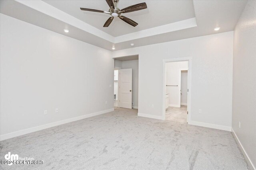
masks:
<path id="1" fill-rule="evenodd" d="M 67 123 L 0 143 L 8 152 L 43 165 L 0 169 L 246 170 L 232 134 L 175 121 L 138 117 L 136 109 Z"/>

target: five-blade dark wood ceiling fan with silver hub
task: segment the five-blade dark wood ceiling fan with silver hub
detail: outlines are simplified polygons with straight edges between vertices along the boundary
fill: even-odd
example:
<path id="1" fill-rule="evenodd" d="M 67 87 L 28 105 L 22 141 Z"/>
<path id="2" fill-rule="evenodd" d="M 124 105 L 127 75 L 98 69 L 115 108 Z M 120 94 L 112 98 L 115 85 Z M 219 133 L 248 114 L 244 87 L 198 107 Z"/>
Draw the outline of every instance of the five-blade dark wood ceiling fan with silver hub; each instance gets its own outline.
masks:
<path id="1" fill-rule="evenodd" d="M 147 8 L 147 4 L 145 2 L 140 3 L 140 4 L 135 4 L 132 6 L 128 6 L 122 10 L 120 10 L 119 8 L 116 7 L 116 2 L 118 2 L 118 0 L 106 0 L 106 2 L 108 3 L 108 6 L 110 7 L 110 9 L 107 11 L 102 11 L 102 10 L 95 10 L 95 9 L 90 9 L 90 8 L 80 8 L 81 10 L 84 11 L 91 11 L 91 12 L 101 12 L 101 13 L 105 13 L 105 14 L 110 14 L 111 17 L 108 18 L 108 20 L 105 22 L 105 24 L 103 25 L 103 27 L 108 27 L 110 25 L 110 23 L 113 21 L 114 17 L 118 17 L 121 20 L 125 21 L 126 23 L 136 27 L 138 25 L 138 23 L 136 23 L 135 21 L 125 17 L 125 16 L 121 16 L 122 13 L 128 13 L 128 12 L 134 12 L 134 11 L 138 11 L 138 10 L 143 10 Z M 115 4 L 114 4 L 115 3 Z"/>

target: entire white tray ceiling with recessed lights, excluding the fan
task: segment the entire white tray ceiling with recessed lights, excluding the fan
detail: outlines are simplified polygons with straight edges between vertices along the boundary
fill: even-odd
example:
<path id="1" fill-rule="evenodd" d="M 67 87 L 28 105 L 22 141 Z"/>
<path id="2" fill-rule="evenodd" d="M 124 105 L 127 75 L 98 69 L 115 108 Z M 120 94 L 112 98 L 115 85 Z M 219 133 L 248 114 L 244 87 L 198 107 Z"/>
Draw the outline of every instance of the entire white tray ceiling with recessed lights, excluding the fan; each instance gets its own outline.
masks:
<path id="1" fill-rule="evenodd" d="M 104 49 L 113 51 L 114 46 L 116 51 L 232 31 L 247 0 L 120 0 L 118 7 L 140 2 L 146 2 L 148 8 L 124 15 L 138 22 L 136 27 L 115 18 L 104 28 L 107 14 L 79 9 L 108 10 L 105 0 L 1 0 L 0 12 Z M 220 30 L 214 31 L 214 27 Z"/>

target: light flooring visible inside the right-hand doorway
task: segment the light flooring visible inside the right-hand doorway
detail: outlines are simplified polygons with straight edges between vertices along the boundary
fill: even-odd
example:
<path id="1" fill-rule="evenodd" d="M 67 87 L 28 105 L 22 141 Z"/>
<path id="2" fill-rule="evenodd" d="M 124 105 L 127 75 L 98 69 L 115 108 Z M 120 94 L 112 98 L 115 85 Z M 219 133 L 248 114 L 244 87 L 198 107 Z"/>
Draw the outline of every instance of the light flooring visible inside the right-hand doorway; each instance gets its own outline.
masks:
<path id="1" fill-rule="evenodd" d="M 180 123 L 187 123 L 187 106 L 168 107 L 165 112 L 165 119 Z"/>

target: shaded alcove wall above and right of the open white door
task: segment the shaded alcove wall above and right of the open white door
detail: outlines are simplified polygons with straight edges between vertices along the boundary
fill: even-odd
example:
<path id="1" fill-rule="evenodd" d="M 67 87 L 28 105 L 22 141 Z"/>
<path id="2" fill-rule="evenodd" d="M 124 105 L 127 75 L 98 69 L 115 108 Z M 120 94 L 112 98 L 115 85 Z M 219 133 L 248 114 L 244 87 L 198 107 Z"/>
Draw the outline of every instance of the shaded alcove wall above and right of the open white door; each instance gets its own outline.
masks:
<path id="1" fill-rule="evenodd" d="M 139 60 L 123 61 L 122 68 L 132 68 L 132 102 L 133 107 L 138 108 Z"/>

